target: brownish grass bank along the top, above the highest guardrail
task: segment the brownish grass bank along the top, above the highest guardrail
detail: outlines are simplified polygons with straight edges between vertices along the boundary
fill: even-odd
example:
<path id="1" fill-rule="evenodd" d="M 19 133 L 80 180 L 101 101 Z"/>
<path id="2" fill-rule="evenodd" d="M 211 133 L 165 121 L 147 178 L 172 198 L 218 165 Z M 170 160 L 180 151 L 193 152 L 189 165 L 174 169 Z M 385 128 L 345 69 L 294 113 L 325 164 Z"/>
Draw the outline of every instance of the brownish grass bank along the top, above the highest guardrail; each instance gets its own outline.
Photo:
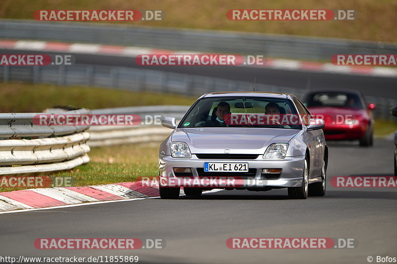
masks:
<path id="1" fill-rule="evenodd" d="M 164 10 L 163 21 L 128 25 L 231 30 L 315 37 L 396 42 L 395 0 L 2 0 L 0 17 L 33 19 L 39 9 Z M 229 9 L 354 9 L 354 21 L 230 21 Z M 95 22 L 93 22 L 95 23 Z M 109 22 L 108 22 L 109 23 Z M 120 23 L 120 22 L 110 22 Z M 115 44 L 117 41 L 115 40 Z"/>

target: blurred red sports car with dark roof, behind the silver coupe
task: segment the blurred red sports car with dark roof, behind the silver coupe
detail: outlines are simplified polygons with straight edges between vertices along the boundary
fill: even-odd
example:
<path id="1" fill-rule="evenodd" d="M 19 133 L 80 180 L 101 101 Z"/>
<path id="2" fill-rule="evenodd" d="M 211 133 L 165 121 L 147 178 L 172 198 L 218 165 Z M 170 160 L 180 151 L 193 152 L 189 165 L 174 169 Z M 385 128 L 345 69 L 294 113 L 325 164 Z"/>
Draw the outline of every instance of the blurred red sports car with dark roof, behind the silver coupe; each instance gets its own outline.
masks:
<path id="1" fill-rule="evenodd" d="M 313 91 L 304 102 L 311 114 L 324 119 L 326 140 L 358 139 L 360 146 L 372 146 L 375 105 L 366 105 L 360 92 Z"/>

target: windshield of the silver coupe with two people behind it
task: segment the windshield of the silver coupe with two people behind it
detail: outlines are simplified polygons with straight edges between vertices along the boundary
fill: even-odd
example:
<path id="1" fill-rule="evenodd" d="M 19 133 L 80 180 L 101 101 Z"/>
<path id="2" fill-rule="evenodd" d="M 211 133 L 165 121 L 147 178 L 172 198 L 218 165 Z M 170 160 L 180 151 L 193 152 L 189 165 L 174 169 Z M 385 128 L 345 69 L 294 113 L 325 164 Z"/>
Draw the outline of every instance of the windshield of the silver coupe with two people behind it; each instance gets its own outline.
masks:
<path id="1" fill-rule="evenodd" d="M 295 122 L 291 122 L 291 116 L 295 117 Z M 283 117 L 286 119 L 283 120 Z M 178 127 L 302 129 L 290 100 L 266 97 L 203 98 L 191 107 Z"/>

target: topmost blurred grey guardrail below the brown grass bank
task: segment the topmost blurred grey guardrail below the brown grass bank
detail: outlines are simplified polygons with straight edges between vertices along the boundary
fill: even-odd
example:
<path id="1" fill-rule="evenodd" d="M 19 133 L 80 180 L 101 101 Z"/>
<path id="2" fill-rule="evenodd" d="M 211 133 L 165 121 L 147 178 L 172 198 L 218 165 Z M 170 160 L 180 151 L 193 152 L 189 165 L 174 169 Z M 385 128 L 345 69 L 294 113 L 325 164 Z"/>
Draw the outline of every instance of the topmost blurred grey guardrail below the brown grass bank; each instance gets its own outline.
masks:
<path id="1" fill-rule="evenodd" d="M 0 20 L 1 38 L 141 46 L 169 50 L 237 53 L 297 59 L 334 54 L 396 54 L 393 43 L 231 31 L 175 29 L 103 23 Z"/>

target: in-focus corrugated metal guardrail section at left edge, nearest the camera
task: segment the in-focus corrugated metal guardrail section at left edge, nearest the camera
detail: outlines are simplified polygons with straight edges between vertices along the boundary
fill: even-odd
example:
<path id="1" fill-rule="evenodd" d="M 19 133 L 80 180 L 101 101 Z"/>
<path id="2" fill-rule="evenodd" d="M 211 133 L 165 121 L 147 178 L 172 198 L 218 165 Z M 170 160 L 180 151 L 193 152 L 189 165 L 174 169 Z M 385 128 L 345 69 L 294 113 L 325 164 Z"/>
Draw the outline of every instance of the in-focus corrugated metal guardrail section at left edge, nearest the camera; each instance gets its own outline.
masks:
<path id="1" fill-rule="evenodd" d="M 65 170 L 89 161 L 90 135 L 83 132 L 88 126 L 37 125 L 37 114 L 0 113 L 0 175 Z"/>

